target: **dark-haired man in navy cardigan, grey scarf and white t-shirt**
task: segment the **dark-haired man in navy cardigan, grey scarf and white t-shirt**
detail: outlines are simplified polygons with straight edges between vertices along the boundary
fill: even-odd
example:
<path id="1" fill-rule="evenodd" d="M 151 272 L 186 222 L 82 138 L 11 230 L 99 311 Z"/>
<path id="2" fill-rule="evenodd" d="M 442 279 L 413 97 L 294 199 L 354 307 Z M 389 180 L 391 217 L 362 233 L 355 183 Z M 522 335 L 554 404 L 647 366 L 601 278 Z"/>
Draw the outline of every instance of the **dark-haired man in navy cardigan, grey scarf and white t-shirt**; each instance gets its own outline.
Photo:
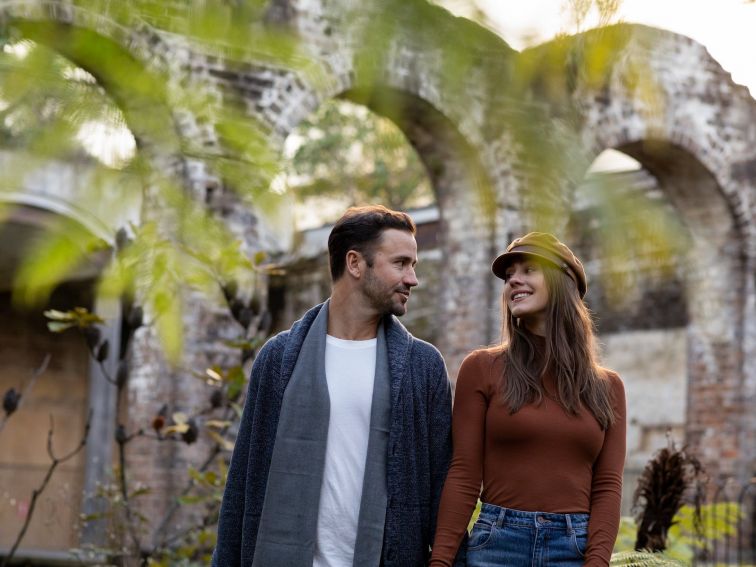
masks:
<path id="1" fill-rule="evenodd" d="M 426 565 L 451 454 L 443 359 L 395 316 L 417 285 L 415 225 L 349 209 L 331 297 L 252 368 L 213 565 Z"/>

